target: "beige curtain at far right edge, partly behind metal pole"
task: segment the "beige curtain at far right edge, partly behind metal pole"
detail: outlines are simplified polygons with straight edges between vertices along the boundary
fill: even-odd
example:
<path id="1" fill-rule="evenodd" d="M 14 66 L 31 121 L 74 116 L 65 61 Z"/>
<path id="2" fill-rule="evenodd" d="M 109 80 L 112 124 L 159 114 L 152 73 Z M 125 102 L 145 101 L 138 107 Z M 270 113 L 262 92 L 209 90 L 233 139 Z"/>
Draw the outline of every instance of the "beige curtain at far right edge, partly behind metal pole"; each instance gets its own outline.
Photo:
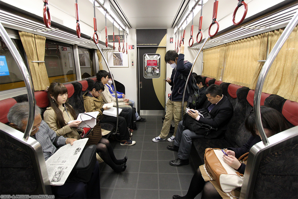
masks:
<path id="1" fill-rule="evenodd" d="M 268 48 L 273 49 L 283 30 L 269 32 Z M 266 76 L 262 92 L 298 102 L 298 31 L 293 30 Z"/>

